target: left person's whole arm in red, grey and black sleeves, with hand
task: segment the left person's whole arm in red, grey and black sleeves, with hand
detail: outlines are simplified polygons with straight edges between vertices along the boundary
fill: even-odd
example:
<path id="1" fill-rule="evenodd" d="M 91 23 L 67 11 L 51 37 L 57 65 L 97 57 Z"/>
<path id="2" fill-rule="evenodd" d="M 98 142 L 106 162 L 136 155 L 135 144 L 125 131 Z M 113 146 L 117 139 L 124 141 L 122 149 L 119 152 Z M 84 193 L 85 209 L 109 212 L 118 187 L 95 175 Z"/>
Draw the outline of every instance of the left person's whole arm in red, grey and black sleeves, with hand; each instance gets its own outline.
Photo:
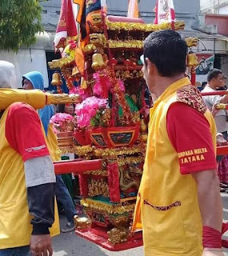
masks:
<path id="1" fill-rule="evenodd" d="M 6 118 L 6 139 L 24 161 L 27 201 L 34 216 L 30 250 L 33 255 L 52 255 L 49 227 L 54 222 L 54 166 L 40 119 L 32 107 L 23 103 L 11 106 Z"/>

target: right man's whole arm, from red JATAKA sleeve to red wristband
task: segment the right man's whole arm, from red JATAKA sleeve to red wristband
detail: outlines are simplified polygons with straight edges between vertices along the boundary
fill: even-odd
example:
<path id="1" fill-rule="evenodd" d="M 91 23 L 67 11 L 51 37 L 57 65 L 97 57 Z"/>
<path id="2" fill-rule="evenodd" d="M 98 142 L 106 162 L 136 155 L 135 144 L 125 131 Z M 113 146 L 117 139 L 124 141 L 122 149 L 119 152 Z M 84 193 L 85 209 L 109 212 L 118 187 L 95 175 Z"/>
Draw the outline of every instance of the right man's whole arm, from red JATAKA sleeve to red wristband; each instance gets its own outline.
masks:
<path id="1" fill-rule="evenodd" d="M 179 154 L 180 172 L 191 174 L 197 183 L 203 255 L 222 255 L 222 202 L 216 172 L 215 138 L 212 138 L 209 122 L 204 114 L 190 106 L 174 103 L 167 114 L 167 131 L 177 153 L 192 150 L 194 159 L 201 156 L 201 161 L 184 162 Z"/>

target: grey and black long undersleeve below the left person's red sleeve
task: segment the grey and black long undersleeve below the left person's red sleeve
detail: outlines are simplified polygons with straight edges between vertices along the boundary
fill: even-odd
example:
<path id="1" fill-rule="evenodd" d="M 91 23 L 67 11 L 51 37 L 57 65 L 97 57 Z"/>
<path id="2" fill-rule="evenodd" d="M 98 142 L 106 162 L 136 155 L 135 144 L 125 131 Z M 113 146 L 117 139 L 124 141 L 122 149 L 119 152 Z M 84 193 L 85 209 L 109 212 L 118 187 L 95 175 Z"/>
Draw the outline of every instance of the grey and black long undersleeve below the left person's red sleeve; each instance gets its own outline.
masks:
<path id="1" fill-rule="evenodd" d="M 31 158 L 24 163 L 27 201 L 34 216 L 32 234 L 50 234 L 54 222 L 54 185 L 56 178 L 50 156 Z"/>

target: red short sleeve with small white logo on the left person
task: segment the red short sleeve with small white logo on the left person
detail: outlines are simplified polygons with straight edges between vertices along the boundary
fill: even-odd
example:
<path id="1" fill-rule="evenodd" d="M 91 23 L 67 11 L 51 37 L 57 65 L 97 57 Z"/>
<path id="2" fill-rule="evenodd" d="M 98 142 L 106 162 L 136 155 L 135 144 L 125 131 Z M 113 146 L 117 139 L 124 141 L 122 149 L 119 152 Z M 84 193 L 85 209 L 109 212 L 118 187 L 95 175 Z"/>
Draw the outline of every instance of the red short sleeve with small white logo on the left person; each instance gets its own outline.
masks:
<path id="1" fill-rule="evenodd" d="M 49 155 L 40 118 L 30 105 L 16 102 L 10 106 L 5 132 L 10 146 L 22 155 L 24 162 Z"/>

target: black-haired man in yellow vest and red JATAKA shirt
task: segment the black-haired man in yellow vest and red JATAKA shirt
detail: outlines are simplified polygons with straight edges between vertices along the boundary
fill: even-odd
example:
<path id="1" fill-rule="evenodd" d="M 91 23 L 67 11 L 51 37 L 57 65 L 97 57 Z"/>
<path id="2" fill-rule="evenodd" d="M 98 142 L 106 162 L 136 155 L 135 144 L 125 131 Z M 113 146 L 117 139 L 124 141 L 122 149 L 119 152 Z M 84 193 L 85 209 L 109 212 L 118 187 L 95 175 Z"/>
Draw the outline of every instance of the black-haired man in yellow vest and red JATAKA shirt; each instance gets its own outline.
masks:
<path id="1" fill-rule="evenodd" d="M 214 118 L 186 78 L 186 42 L 150 34 L 142 71 L 152 94 L 149 134 L 133 230 L 146 256 L 222 256 L 222 199 Z"/>

